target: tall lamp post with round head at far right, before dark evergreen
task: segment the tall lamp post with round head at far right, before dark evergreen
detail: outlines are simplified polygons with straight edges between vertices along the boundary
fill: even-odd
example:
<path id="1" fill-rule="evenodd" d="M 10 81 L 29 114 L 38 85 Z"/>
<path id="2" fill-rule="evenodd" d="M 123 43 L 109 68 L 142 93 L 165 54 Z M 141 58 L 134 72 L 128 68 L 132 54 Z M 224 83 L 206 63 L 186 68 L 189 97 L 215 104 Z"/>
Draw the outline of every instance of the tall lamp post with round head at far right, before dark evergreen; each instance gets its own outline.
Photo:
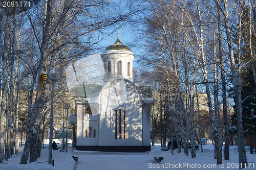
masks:
<path id="1" fill-rule="evenodd" d="M 241 124 L 240 124 L 242 117 L 240 117 L 240 105 L 241 105 L 241 103 L 239 101 L 240 96 L 239 96 L 238 88 L 239 88 L 239 86 L 242 85 L 242 80 L 240 78 L 234 78 L 232 84 L 235 87 L 236 96 L 237 96 L 236 105 L 237 105 L 237 114 L 238 114 L 238 152 L 239 152 L 239 169 L 241 169 L 242 166 L 243 166 L 243 164 L 242 164 L 243 163 L 242 162 L 242 160 L 243 160 L 243 158 L 242 158 L 242 138 L 241 138 Z"/>

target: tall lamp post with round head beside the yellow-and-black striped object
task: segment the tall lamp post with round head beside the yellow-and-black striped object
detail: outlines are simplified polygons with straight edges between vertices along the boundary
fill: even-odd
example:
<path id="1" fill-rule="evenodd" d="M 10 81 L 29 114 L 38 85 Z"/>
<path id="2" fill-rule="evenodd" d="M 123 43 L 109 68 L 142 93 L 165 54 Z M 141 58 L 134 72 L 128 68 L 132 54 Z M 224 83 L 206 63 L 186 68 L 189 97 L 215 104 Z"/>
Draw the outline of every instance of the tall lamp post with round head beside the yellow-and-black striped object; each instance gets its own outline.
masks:
<path id="1" fill-rule="evenodd" d="M 52 103 L 51 103 L 51 119 L 50 119 L 50 141 L 49 141 L 49 164 L 52 164 L 52 131 L 53 131 L 53 90 L 54 82 L 58 80 L 58 72 L 55 69 L 51 69 L 48 73 L 49 79 L 52 81 Z"/>

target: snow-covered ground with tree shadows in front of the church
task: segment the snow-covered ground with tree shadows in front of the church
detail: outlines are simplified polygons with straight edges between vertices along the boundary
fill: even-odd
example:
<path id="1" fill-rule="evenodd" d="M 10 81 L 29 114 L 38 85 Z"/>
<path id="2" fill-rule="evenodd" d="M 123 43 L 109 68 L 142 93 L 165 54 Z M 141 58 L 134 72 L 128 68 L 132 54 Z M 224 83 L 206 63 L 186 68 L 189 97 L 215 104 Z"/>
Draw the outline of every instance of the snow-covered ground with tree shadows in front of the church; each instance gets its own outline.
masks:
<path id="1" fill-rule="evenodd" d="M 80 169 L 239 169 L 238 166 L 238 150 L 237 147 L 230 147 L 230 160 L 223 159 L 222 165 L 217 165 L 214 159 L 214 146 L 204 145 L 204 152 L 197 150 L 197 158 L 191 159 L 184 152 L 181 154 L 174 151 L 174 155 L 170 151 L 160 151 L 160 146 L 152 147 L 152 151 L 148 153 L 122 153 L 122 152 L 97 152 L 97 151 L 72 151 L 69 152 L 53 151 L 52 159 L 55 166 L 46 163 L 37 163 L 48 161 L 48 149 L 41 150 L 41 157 L 36 162 L 28 164 L 19 164 L 22 155 L 22 149 L 18 155 L 13 155 L 9 161 L 0 164 L 0 169 L 19 170 L 19 169 L 61 169 L 61 170 L 80 170 Z M 248 147 L 247 161 L 254 162 L 246 169 L 256 170 L 256 154 L 250 154 Z M 78 162 L 75 162 L 72 155 L 78 156 Z M 160 163 L 154 163 L 154 157 L 162 156 Z M 224 157 L 224 152 L 223 152 Z"/>

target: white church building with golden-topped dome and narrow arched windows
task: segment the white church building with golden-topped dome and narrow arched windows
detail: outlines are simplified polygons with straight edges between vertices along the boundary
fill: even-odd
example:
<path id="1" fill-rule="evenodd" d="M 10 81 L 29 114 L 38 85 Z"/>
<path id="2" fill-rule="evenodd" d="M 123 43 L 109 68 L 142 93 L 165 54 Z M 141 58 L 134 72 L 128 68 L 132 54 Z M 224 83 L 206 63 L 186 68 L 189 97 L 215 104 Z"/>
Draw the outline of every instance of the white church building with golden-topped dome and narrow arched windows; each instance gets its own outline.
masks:
<path id="1" fill-rule="evenodd" d="M 98 91 L 97 95 L 86 94 L 84 100 L 76 100 L 76 149 L 150 151 L 152 103 L 143 99 L 133 83 L 135 55 L 117 37 L 100 57 L 106 73 L 104 83 L 90 86 L 91 91 Z"/>

